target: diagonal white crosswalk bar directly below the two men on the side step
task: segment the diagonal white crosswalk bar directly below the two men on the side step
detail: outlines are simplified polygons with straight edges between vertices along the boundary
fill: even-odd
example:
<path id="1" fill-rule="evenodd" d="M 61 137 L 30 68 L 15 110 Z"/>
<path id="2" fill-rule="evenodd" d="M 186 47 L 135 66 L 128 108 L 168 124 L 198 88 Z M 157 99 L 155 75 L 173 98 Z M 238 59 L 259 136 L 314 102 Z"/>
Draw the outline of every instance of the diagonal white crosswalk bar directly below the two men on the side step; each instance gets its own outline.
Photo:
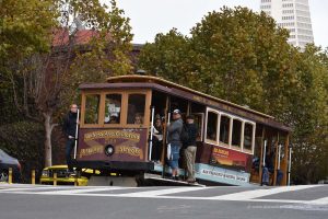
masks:
<path id="1" fill-rule="evenodd" d="M 153 197 L 160 195 L 168 195 L 174 193 L 184 193 L 184 192 L 194 192 L 207 189 L 208 187 L 178 187 L 178 188 L 167 188 L 167 189 L 156 189 L 156 191 L 145 191 L 145 192 L 137 192 L 137 193 L 127 193 L 120 194 L 119 196 L 128 196 L 128 197 Z"/>

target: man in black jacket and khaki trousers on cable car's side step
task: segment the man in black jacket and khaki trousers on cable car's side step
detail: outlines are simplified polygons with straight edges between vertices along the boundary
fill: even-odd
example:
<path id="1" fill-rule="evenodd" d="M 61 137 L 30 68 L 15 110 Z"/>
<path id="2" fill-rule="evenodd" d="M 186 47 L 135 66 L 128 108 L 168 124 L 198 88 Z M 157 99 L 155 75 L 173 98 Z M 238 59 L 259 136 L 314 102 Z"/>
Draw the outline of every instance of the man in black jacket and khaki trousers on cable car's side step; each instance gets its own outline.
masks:
<path id="1" fill-rule="evenodd" d="M 188 183 L 195 183 L 195 159 L 197 152 L 196 139 L 198 135 L 198 128 L 194 123 L 194 116 L 189 115 L 186 118 L 185 127 L 186 131 L 188 132 L 188 138 L 183 142 L 184 145 L 184 152 L 186 158 L 187 164 L 187 173 L 188 173 Z"/>

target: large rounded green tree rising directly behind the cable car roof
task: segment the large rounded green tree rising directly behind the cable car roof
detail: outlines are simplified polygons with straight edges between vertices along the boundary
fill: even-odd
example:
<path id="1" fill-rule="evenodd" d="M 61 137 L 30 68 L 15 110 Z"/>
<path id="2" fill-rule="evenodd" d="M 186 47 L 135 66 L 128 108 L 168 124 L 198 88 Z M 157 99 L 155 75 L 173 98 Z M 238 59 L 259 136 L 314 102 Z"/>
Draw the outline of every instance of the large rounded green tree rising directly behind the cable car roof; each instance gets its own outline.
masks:
<path id="1" fill-rule="evenodd" d="M 285 30 L 265 13 L 223 8 L 206 15 L 190 34 L 159 34 L 154 44 L 144 46 L 141 68 L 241 105 L 272 108 L 263 88 L 273 78 L 281 87 L 281 72 L 292 77 L 292 69 L 284 69 L 292 54 Z"/>

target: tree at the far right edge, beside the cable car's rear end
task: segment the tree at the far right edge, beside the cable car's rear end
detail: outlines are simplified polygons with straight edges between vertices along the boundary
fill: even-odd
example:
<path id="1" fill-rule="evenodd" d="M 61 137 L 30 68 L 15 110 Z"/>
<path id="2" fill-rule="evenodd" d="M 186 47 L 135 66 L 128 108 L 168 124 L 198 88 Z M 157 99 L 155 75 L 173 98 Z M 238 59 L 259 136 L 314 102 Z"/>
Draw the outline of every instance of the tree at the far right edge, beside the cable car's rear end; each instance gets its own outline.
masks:
<path id="1" fill-rule="evenodd" d="M 300 87 L 289 108 L 293 178 L 296 183 L 316 183 L 328 176 L 328 56 L 314 45 L 300 56 Z"/>

